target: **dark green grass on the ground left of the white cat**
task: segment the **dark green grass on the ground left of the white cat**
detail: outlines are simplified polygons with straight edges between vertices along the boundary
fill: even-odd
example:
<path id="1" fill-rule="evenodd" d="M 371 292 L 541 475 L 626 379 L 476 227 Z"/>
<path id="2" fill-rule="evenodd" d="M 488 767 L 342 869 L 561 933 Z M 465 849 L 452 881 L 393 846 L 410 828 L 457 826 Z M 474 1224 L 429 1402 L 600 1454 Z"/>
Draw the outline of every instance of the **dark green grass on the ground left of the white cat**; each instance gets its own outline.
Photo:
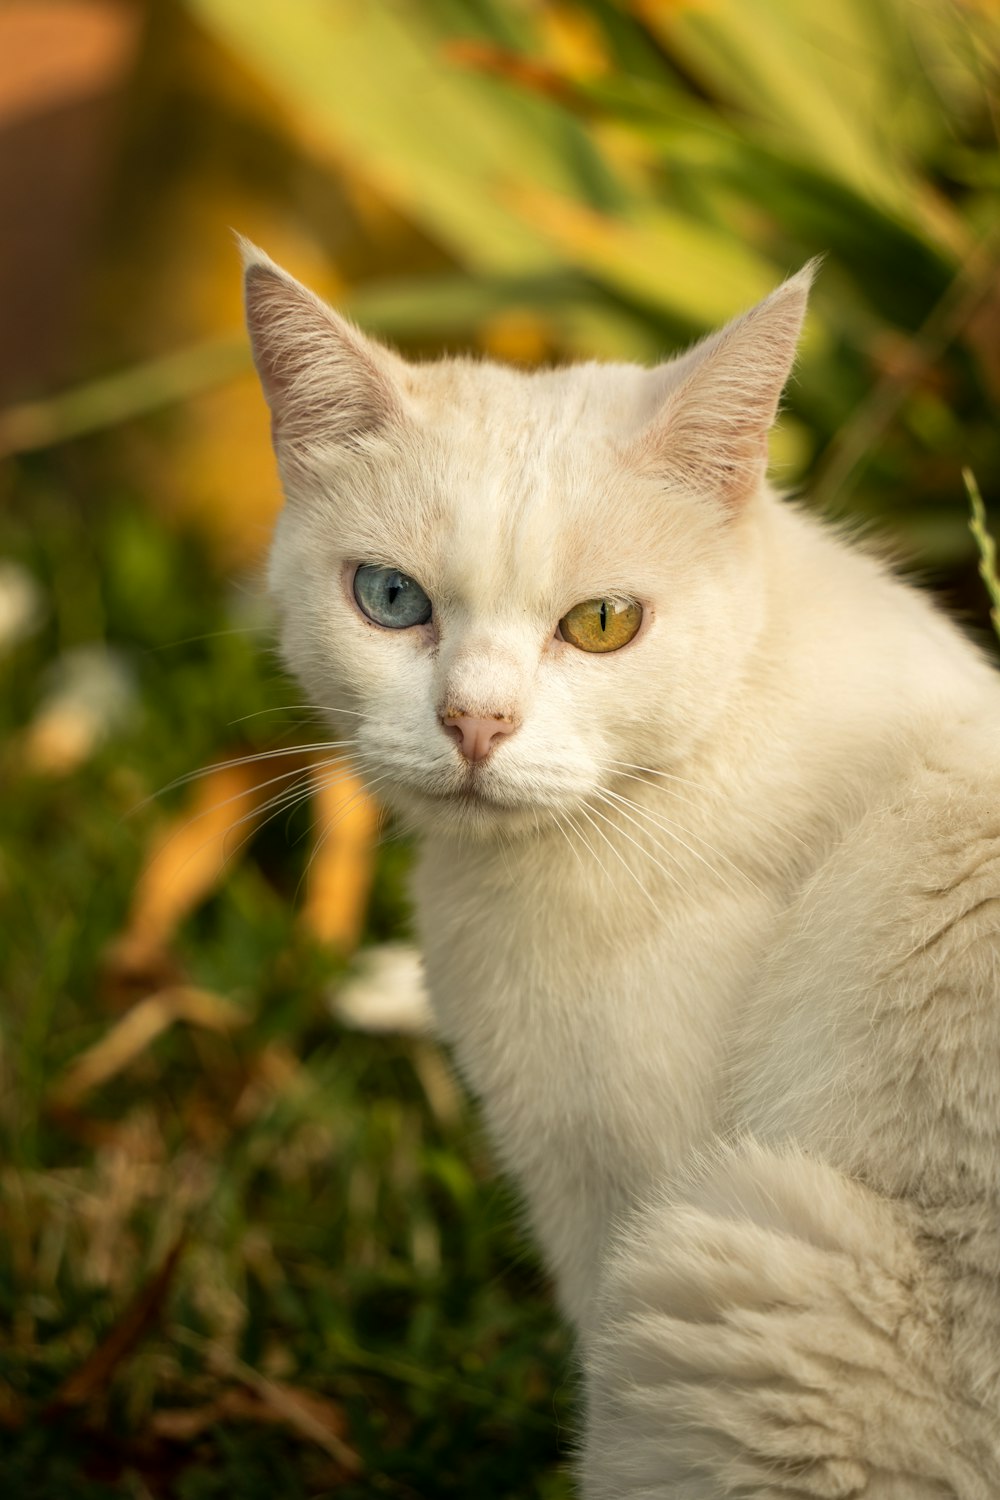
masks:
<path id="1" fill-rule="evenodd" d="M 64 472 L 19 472 L 30 524 L 3 536 L 48 610 L 0 660 L 4 1494 L 568 1496 L 568 1341 L 517 1208 L 439 1053 L 331 1018 L 345 964 L 297 924 L 295 818 L 232 861 L 174 945 L 246 1024 L 174 1026 L 73 1113 L 52 1108 L 52 1082 L 135 998 L 108 945 L 183 800 L 154 794 L 294 734 L 259 711 L 298 698 L 259 632 L 229 633 L 246 600 L 195 542 L 139 496 L 75 501 Z M 25 726 L 52 662 L 94 639 L 123 654 L 130 717 L 42 776 Z M 406 928 L 405 860 L 381 854 L 369 936 Z M 94 1370 L 142 1296 L 138 1334 Z M 303 1390 L 312 1420 L 288 1416 Z"/>

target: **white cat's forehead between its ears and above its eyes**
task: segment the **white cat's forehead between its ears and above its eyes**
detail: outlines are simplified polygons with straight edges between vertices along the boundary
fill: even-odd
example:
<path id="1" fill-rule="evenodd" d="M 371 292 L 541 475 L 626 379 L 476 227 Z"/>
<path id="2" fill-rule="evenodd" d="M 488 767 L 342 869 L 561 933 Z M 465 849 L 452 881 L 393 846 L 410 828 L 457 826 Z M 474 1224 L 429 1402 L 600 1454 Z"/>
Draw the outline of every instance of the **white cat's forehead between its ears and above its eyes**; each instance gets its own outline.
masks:
<path id="1" fill-rule="evenodd" d="M 622 452 L 655 410 L 651 372 L 582 364 L 523 374 L 444 362 L 415 372 L 414 537 L 454 597 L 532 608 L 634 574 Z M 544 608 L 544 606 L 543 606 Z"/>

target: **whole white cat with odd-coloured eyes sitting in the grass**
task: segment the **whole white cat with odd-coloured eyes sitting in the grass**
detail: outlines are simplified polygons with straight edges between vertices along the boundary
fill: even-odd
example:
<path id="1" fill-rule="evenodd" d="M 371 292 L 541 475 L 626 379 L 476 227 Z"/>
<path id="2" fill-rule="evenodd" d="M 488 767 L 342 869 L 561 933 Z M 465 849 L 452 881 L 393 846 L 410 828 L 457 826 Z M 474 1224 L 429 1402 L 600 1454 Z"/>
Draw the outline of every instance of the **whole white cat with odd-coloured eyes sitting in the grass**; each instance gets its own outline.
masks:
<path id="1" fill-rule="evenodd" d="M 1000 680 L 765 482 L 810 268 L 412 366 L 246 248 L 283 648 L 421 834 L 588 1500 L 1000 1496 Z"/>

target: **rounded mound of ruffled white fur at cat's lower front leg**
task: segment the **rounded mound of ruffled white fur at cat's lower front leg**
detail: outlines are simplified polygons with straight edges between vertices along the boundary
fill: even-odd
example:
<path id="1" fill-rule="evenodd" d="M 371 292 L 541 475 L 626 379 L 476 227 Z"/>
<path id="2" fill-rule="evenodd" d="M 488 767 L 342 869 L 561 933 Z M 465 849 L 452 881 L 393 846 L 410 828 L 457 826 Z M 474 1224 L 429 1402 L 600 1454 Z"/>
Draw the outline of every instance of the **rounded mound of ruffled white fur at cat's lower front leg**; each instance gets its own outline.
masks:
<path id="1" fill-rule="evenodd" d="M 988 1500 L 939 1287 L 897 1204 L 754 1143 L 645 1209 L 585 1350 L 586 1500 Z"/>

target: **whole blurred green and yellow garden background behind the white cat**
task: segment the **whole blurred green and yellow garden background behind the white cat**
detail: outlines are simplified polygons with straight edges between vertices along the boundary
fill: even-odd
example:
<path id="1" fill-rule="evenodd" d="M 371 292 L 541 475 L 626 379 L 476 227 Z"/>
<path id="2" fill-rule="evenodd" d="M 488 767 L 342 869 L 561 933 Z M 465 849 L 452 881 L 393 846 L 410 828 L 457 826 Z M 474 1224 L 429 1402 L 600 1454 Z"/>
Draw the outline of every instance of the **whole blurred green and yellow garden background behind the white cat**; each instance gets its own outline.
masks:
<path id="1" fill-rule="evenodd" d="M 231 230 L 525 366 L 823 252 L 775 477 L 988 642 L 999 76 L 993 0 L 0 4 L 4 1494 L 570 1494 L 475 1114 L 336 1014 L 408 854 L 273 654 Z"/>

